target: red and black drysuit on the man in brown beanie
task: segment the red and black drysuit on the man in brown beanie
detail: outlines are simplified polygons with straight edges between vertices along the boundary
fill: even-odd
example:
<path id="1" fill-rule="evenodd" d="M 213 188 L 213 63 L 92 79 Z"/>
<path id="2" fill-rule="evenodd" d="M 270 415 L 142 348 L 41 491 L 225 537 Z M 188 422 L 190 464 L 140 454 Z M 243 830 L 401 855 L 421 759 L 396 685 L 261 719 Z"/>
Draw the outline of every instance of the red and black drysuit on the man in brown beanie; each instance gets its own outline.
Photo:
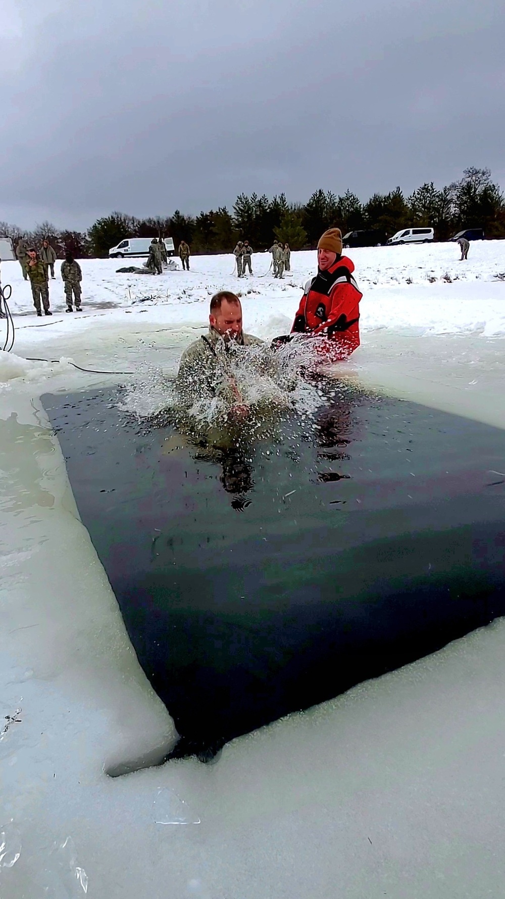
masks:
<path id="1" fill-rule="evenodd" d="M 352 277 L 354 263 L 346 256 L 306 282 L 291 334 L 323 337 L 318 352 L 328 360 L 346 359 L 359 346 L 359 300 L 363 296 Z"/>

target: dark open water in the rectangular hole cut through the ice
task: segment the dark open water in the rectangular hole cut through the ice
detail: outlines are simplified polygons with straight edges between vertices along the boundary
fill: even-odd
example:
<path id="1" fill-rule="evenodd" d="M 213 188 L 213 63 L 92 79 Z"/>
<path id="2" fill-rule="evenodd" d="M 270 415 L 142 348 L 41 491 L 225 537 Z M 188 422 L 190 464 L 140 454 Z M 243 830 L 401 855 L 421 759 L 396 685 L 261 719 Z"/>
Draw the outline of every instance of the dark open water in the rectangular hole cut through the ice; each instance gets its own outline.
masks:
<path id="1" fill-rule="evenodd" d="M 175 755 L 505 614 L 500 430 L 356 394 L 217 460 L 117 392 L 43 402 Z"/>

